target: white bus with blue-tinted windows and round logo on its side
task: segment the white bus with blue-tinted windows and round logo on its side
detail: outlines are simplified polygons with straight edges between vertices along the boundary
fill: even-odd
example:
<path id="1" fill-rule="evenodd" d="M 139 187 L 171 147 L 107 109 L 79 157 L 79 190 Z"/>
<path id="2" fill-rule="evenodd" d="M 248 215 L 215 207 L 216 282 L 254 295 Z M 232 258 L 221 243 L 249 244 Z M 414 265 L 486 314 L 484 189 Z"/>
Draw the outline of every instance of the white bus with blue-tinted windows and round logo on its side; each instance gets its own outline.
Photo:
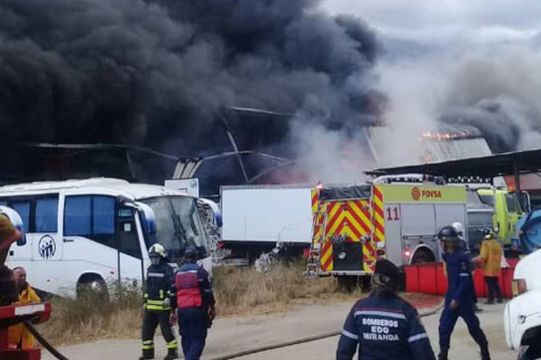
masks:
<path id="1" fill-rule="evenodd" d="M 136 280 L 150 265 L 148 248 L 160 242 L 170 262 L 188 245 L 210 271 L 206 232 L 197 198 L 151 184 L 112 178 L 0 187 L 0 205 L 17 211 L 26 244 L 12 246 L 8 266 L 23 266 L 32 286 L 74 296 L 90 286 Z"/>

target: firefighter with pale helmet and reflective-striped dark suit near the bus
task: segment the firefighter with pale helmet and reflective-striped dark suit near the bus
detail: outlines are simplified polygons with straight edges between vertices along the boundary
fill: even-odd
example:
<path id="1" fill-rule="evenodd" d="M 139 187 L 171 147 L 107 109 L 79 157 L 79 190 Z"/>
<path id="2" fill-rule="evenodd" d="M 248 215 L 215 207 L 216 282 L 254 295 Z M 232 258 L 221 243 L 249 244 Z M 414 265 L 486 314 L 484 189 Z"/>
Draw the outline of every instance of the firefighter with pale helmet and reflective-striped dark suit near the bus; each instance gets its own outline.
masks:
<path id="1" fill-rule="evenodd" d="M 151 266 L 147 269 L 146 292 L 144 294 L 144 319 L 142 320 L 142 356 L 154 358 L 154 332 L 160 324 L 165 338 L 167 356 L 164 360 L 179 358 L 177 338 L 170 324 L 170 289 L 174 284 L 174 270 L 167 263 L 165 248 L 154 244 L 149 249 Z"/>

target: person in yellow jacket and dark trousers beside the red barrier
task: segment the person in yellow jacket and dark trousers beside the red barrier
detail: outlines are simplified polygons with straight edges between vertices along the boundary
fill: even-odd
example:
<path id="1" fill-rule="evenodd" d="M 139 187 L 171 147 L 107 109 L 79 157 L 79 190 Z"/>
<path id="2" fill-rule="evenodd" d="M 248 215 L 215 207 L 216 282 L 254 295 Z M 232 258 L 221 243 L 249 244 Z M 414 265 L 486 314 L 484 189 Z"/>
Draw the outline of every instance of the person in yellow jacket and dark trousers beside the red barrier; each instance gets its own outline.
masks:
<path id="1" fill-rule="evenodd" d="M 491 229 L 485 229 L 484 233 L 478 264 L 482 266 L 485 282 L 489 288 L 489 299 L 485 303 L 491 305 L 494 303 L 495 297 L 498 298 L 498 302 L 502 302 L 498 275 L 500 274 L 501 253 L 503 250 L 500 241 L 494 236 Z"/>

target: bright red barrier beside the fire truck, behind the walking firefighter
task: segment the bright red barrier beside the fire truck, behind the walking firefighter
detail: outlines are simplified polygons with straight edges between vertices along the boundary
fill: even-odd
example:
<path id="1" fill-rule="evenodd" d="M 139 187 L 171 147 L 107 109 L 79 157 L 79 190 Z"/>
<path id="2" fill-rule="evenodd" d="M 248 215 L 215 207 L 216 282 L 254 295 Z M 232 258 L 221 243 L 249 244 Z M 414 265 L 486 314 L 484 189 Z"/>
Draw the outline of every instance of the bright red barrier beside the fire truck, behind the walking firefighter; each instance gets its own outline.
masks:
<path id="1" fill-rule="evenodd" d="M 513 297 L 511 281 L 513 280 L 517 262 L 518 261 L 515 259 L 509 259 L 508 263 L 511 267 L 502 268 L 500 270 L 499 281 L 501 294 L 507 299 Z M 447 276 L 444 267 L 444 263 L 406 266 L 404 269 L 406 273 L 406 291 L 408 293 L 445 295 L 445 293 L 447 293 Z M 482 269 L 474 269 L 473 285 L 477 296 L 488 296 L 488 287 Z"/>

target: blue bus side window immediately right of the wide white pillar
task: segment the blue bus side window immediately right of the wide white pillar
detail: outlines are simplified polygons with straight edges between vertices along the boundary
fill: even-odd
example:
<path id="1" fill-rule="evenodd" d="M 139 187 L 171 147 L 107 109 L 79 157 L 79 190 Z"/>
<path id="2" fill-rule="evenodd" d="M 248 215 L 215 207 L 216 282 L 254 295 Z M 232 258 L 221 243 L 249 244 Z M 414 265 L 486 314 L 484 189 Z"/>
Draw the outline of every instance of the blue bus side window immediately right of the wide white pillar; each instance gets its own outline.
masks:
<path id="1" fill-rule="evenodd" d="M 64 206 L 64 235 L 90 235 L 92 207 L 90 196 L 67 196 Z"/>

